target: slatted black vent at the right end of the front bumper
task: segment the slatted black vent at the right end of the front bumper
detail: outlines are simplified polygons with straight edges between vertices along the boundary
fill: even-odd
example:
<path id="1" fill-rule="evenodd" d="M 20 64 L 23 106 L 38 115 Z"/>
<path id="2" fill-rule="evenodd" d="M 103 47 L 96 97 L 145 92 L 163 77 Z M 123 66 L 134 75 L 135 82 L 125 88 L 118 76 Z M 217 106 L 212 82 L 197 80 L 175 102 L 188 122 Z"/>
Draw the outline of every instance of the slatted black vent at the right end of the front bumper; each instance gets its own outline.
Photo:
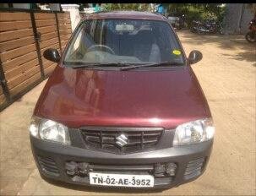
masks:
<path id="1" fill-rule="evenodd" d="M 188 180 L 193 177 L 198 177 L 204 167 L 204 160 L 204 158 L 200 158 L 194 161 L 189 161 L 184 173 L 184 178 Z"/>

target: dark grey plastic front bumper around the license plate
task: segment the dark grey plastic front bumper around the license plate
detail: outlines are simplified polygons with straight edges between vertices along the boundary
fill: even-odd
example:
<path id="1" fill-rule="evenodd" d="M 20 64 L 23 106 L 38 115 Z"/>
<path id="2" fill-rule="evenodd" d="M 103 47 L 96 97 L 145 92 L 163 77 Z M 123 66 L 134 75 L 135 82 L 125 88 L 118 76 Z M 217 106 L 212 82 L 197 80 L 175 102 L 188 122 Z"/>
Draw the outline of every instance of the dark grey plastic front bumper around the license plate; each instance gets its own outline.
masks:
<path id="1" fill-rule="evenodd" d="M 157 164 L 175 163 L 177 166 L 175 175 L 172 177 L 155 176 L 154 184 L 154 188 L 172 188 L 193 181 L 202 175 L 210 158 L 213 141 L 126 155 L 56 144 L 31 136 L 30 144 L 36 166 L 41 175 L 46 178 L 85 186 L 90 185 L 89 175 L 82 177 L 68 175 L 67 162 L 89 164 L 90 171 L 93 172 L 104 170 L 104 172 L 117 174 L 133 173 L 153 176 L 155 176 L 154 170 Z"/>

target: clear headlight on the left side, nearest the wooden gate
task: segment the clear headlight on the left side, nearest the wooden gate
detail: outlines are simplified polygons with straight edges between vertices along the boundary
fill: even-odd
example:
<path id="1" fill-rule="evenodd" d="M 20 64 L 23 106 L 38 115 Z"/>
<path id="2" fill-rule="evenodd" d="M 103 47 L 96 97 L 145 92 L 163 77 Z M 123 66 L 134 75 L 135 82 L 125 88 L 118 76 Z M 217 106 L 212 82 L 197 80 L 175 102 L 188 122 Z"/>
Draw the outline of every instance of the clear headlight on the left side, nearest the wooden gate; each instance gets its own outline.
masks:
<path id="1" fill-rule="evenodd" d="M 30 134 L 38 139 L 70 144 L 68 128 L 61 123 L 40 117 L 32 117 Z"/>

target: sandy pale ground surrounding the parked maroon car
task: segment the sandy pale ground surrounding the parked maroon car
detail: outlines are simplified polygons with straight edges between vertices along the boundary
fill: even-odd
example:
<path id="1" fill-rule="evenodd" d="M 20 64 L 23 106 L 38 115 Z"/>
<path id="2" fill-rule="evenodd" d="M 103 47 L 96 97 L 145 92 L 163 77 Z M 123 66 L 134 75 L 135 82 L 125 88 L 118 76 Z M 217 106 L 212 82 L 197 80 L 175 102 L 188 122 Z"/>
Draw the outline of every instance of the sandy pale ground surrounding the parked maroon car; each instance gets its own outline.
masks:
<path id="1" fill-rule="evenodd" d="M 178 188 L 151 194 L 255 195 L 255 46 L 249 45 L 242 36 L 198 36 L 187 31 L 178 35 L 187 53 L 198 49 L 204 54 L 193 69 L 215 120 L 215 144 L 202 177 Z M 56 186 L 39 176 L 27 127 L 45 83 L 0 113 L 1 194 L 114 194 L 67 184 Z M 120 190 L 118 193 L 138 192 Z"/>

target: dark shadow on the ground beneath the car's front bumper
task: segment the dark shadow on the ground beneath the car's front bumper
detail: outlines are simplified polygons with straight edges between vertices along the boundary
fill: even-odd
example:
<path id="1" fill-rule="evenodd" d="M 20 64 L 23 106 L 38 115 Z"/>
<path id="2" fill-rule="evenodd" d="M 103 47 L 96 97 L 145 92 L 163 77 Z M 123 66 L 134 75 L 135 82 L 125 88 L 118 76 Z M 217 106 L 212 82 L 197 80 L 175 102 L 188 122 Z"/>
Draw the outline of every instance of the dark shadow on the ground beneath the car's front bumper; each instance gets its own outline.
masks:
<path id="1" fill-rule="evenodd" d="M 52 179 L 48 179 L 46 177 L 43 177 L 43 180 L 45 180 L 46 182 L 54 185 L 54 186 L 58 186 L 58 187 L 62 187 L 62 188 L 68 188 L 68 189 L 73 189 L 76 191 L 86 191 L 86 192 L 97 192 L 97 193 L 161 193 L 163 192 L 165 189 L 163 188 L 159 188 L 159 189 L 145 189 L 145 188 L 138 188 L 138 189 L 134 189 L 134 188 L 101 188 L 101 187 L 90 187 L 90 186 L 84 186 L 84 185 L 77 185 L 77 184 L 69 184 L 66 182 L 59 182 L 59 181 L 55 181 Z"/>

